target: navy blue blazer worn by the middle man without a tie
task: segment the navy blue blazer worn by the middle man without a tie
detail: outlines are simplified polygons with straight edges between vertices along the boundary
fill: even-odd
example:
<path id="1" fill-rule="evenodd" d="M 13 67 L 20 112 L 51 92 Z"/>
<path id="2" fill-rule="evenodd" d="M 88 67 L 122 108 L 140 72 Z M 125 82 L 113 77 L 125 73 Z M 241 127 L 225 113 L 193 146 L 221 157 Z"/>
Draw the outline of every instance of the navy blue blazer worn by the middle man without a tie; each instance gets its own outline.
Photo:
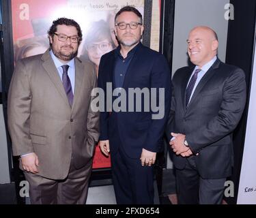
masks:
<path id="1" fill-rule="evenodd" d="M 171 73 L 167 60 L 159 52 L 139 44 L 124 78 L 123 89 L 126 91 L 126 111 L 106 112 L 106 82 L 114 82 L 115 50 L 102 56 L 99 66 L 98 87 L 105 93 L 105 110 L 100 112 L 100 140 L 109 140 L 111 153 L 123 146 L 131 158 L 141 157 L 142 149 L 159 152 L 162 149 L 162 136 L 167 123 L 171 105 Z M 112 84 L 114 89 L 114 84 Z M 164 110 L 162 119 L 152 119 L 153 112 L 145 112 L 145 99 L 142 95 L 142 112 L 128 112 L 129 88 L 164 88 Z M 157 96 L 159 97 L 158 93 Z M 152 95 L 150 94 L 150 99 Z M 163 97 L 163 96 L 162 96 Z M 112 97 L 111 102 L 116 98 Z M 157 101 L 158 102 L 158 101 Z M 146 102 L 148 103 L 148 102 Z M 122 143 L 120 143 L 120 141 Z"/>

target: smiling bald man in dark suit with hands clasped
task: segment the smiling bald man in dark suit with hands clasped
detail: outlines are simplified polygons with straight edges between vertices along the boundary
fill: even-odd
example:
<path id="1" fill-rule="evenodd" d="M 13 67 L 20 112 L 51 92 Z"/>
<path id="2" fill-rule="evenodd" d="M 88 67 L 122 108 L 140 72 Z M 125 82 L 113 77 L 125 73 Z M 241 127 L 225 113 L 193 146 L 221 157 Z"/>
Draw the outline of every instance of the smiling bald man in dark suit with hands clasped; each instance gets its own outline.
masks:
<path id="1" fill-rule="evenodd" d="M 188 36 L 194 67 L 173 76 L 167 125 L 180 204 L 221 204 L 233 163 L 232 132 L 246 102 L 242 69 L 217 57 L 218 38 L 209 27 Z"/>

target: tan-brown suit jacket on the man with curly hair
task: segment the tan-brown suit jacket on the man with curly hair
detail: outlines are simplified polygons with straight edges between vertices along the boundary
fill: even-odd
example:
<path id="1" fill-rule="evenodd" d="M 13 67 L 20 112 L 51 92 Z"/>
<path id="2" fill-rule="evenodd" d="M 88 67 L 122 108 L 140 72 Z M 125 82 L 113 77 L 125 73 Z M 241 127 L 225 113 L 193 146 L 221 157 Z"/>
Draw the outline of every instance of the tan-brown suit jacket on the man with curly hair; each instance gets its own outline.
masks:
<path id="1" fill-rule="evenodd" d="M 90 63 L 75 58 L 72 107 L 48 50 L 16 63 L 8 94 L 8 126 L 13 155 L 34 152 L 38 175 L 63 179 L 71 157 L 76 168 L 87 164 L 98 141 L 98 112 L 91 111 L 97 86 Z"/>

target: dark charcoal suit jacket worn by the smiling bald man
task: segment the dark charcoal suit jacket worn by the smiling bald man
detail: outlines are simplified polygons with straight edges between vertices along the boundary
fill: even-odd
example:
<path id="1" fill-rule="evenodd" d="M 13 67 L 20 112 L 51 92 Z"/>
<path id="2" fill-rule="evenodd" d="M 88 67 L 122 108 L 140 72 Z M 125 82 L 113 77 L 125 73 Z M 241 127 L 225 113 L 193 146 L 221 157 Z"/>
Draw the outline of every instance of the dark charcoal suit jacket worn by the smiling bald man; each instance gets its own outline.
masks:
<path id="1" fill-rule="evenodd" d="M 217 59 L 197 85 L 186 108 L 186 85 L 193 68 L 177 69 L 173 76 L 170 132 L 186 135 L 203 178 L 225 178 L 233 163 L 232 131 L 238 125 L 246 102 L 246 82 L 242 69 Z M 175 168 L 183 169 L 186 157 L 173 153 Z"/>

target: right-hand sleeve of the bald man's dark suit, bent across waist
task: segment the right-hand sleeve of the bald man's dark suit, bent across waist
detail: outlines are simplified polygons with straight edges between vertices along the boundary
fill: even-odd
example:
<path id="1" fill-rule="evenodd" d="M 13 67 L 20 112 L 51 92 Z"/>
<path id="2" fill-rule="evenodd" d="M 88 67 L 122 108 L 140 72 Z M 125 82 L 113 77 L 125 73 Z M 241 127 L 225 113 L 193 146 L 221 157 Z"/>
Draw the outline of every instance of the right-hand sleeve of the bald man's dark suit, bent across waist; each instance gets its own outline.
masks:
<path id="1" fill-rule="evenodd" d="M 218 111 L 208 123 L 186 135 L 193 153 L 199 152 L 230 134 L 238 125 L 246 102 L 246 82 L 242 69 L 236 68 L 223 86 L 223 101 Z"/>

